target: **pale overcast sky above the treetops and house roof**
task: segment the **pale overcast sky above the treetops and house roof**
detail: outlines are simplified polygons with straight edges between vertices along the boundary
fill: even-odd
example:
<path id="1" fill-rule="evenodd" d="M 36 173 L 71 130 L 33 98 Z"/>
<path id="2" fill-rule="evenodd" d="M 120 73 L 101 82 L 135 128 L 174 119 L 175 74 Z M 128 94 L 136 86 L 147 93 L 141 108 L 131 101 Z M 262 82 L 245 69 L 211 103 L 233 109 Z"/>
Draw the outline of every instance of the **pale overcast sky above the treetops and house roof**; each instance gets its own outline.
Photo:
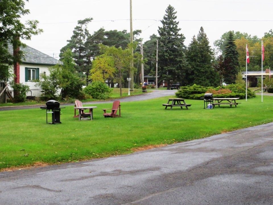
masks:
<path id="1" fill-rule="evenodd" d="M 142 30 L 143 42 L 152 34 L 158 35 L 169 4 L 177 11 L 186 46 L 201 26 L 212 47 L 229 30 L 262 38 L 273 28 L 272 0 L 132 0 L 133 30 Z M 78 20 L 93 18 L 88 24 L 90 34 L 99 28 L 130 32 L 130 0 L 29 0 L 25 8 L 30 14 L 22 22 L 38 20 L 44 32 L 23 42 L 55 58 L 59 58 Z"/>

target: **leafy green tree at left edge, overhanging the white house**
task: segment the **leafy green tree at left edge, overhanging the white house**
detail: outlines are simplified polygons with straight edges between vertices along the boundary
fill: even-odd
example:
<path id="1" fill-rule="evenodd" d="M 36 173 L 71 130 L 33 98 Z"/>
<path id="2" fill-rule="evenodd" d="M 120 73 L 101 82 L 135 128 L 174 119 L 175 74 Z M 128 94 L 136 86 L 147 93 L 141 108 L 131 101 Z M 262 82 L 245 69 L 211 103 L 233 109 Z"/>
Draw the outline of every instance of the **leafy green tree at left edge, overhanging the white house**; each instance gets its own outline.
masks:
<path id="1" fill-rule="evenodd" d="M 24 6 L 23 0 L 0 1 L 0 75 L 2 78 L 9 77 L 7 65 L 20 63 L 23 54 L 19 51 L 15 56 L 10 55 L 7 49 L 8 44 L 12 44 L 14 48 L 25 46 L 21 39 L 30 40 L 32 35 L 43 32 L 38 28 L 38 20 L 27 20 L 25 23 L 20 21 L 22 16 L 30 13 Z"/>

